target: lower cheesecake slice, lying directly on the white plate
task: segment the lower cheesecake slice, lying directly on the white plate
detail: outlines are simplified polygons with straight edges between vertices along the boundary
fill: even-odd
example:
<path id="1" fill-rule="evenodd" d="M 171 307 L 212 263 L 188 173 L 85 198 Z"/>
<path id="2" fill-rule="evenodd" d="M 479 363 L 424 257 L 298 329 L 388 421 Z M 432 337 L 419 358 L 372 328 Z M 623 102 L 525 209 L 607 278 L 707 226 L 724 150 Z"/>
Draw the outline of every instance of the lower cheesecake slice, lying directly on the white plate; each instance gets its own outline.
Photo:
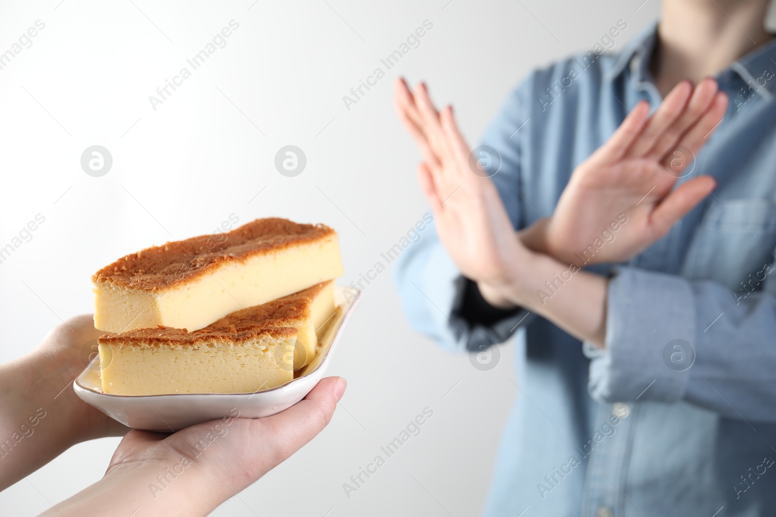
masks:
<path id="1" fill-rule="evenodd" d="M 247 393 L 275 388 L 315 357 L 334 281 L 233 312 L 203 329 L 159 326 L 98 339 L 102 391 Z"/>

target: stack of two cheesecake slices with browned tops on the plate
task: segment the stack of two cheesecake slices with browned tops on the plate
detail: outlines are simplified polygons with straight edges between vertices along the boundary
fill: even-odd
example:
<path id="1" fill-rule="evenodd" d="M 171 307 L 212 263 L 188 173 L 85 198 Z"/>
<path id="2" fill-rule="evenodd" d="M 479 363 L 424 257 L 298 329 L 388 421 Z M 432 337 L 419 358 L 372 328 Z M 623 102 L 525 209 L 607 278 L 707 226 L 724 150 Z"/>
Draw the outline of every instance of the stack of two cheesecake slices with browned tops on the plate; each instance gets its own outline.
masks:
<path id="1" fill-rule="evenodd" d="M 257 219 L 133 253 L 95 284 L 102 390 L 246 393 L 310 364 L 342 262 L 323 225 Z"/>

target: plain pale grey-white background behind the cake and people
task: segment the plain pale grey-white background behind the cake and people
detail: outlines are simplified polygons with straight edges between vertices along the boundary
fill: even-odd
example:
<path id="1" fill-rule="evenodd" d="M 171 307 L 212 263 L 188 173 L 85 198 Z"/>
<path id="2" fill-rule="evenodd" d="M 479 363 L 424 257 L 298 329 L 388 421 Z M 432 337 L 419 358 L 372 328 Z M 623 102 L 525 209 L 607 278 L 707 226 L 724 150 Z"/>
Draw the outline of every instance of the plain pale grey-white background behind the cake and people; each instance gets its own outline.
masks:
<path id="1" fill-rule="evenodd" d="M 333 226 L 341 283 L 358 281 L 428 211 L 414 177 L 420 154 L 393 114 L 395 78 L 428 81 L 476 145 L 532 68 L 591 50 L 624 20 L 609 51 L 620 50 L 659 9 L 657 0 L 2 2 L 0 53 L 38 31 L 0 60 L 0 247 L 44 222 L 0 262 L 0 360 L 92 312 L 89 277 L 100 267 L 235 218 Z M 224 27 L 230 36 L 219 36 Z M 418 27 L 424 36 L 386 67 Z M 194 70 L 187 60 L 209 43 Z M 162 97 L 183 67 L 190 77 Z M 378 67 L 385 77 L 369 79 Z M 306 159 L 293 177 L 275 167 L 289 145 Z M 87 174 L 92 146 L 112 164 Z M 518 395 L 512 358 L 506 343 L 477 368 L 412 332 L 384 271 L 331 365 L 348 379 L 331 425 L 213 515 L 477 515 Z M 420 434 L 347 494 L 343 484 L 424 408 L 433 416 Z M 2 514 L 36 515 L 97 481 L 118 442 L 74 446 L 0 493 Z"/>

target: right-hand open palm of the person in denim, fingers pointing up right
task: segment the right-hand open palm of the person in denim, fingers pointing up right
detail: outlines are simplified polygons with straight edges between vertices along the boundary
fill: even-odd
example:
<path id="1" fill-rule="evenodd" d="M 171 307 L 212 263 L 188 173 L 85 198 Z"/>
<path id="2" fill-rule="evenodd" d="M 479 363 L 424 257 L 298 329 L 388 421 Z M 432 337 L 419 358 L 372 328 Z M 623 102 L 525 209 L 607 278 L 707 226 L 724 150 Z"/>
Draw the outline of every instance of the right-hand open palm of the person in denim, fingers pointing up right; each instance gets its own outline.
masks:
<path id="1" fill-rule="evenodd" d="M 521 239 L 578 266 L 640 253 L 715 188 L 714 178 L 698 176 L 672 190 L 726 108 L 727 96 L 712 78 L 695 89 L 689 81 L 677 84 L 650 118 L 649 104 L 639 102 L 573 171 L 552 217 L 524 230 Z"/>

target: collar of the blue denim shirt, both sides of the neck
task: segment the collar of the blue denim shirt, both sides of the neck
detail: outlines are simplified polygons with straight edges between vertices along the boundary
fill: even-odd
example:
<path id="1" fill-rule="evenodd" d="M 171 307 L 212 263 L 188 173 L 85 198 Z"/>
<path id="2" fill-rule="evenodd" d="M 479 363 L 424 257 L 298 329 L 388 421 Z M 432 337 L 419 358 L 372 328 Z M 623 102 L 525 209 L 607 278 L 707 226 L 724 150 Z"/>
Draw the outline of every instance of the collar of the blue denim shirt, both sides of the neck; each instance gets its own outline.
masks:
<path id="1" fill-rule="evenodd" d="M 657 22 L 653 22 L 618 53 L 614 64 L 604 74 L 604 81 L 614 81 L 630 66 L 636 84 L 652 82 L 649 63 L 656 41 Z M 771 98 L 776 94 L 776 37 L 734 61 L 728 70 L 738 74 L 753 91 Z M 720 72 L 720 75 L 726 71 Z"/>

